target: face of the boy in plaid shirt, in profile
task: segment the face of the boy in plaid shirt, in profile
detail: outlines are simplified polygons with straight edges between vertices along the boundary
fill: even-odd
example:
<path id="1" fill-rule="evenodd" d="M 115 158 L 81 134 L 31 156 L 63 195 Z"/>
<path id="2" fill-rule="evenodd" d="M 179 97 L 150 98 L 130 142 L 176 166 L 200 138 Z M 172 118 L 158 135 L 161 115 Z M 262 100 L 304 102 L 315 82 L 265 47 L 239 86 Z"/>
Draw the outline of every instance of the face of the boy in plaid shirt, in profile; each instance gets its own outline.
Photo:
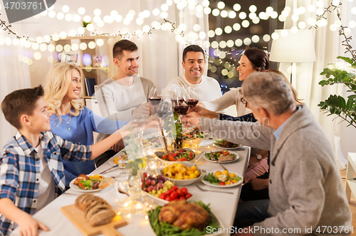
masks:
<path id="1" fill-rule="evenodd" d="M 46 101 L 43 97 L 38 98 L 36 108 L 33 109 L 32 115 L 24 116 L 28 118 L 29 123 L 27 123 L 27 125 L 31 133 L 41 133 L 42 131 L 51 130 L 51 122 L 49 120 L 51 113 L 48 112 Z"/>

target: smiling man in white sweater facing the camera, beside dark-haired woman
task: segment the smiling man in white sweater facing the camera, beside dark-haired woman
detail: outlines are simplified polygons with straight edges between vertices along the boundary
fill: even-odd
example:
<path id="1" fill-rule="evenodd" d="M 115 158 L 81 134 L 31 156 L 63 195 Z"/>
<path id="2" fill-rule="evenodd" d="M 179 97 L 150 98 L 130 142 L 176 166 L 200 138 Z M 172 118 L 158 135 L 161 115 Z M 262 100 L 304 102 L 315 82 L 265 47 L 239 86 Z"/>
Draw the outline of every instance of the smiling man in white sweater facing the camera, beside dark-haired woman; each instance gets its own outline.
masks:
<path id="1" fill-rule="evenodd" d="M 170 102 L 172 97 L 172 88 L 180 86 L 188 91 L 189 87 L 195 87 L 199 94 L 199 102 L 214 101 L 221 97 L 219 82 L 216 79 L 203 76 L 205 69 L 205 53 L 203 48 L 197 45 L 190 45 L 183 51 L 184 76 L 172 79 L 164 88 L 163 98 Z M 184 92 L 183 92 L 184 93 Z M 189 94 L 184 93 L 187 99 Z"/>

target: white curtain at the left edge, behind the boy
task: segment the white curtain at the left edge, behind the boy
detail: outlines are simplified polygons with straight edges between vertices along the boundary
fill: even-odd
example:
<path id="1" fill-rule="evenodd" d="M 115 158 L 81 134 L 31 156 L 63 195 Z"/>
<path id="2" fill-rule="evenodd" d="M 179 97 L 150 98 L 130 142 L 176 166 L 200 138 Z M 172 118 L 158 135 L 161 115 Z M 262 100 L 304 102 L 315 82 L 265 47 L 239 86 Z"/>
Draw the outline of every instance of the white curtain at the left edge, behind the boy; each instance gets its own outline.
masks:
<path id="1" fill-rule="evenodd" d="M 1 19 L 6 20 L 4 8 L 1 8 Z M 13 31 L 21 34 L 21 27 L 13 25 Z M 0 101 L 2 102 L 5 96 L 12 91 L 20 88 L 30 88 L 30 73 L 28 65 L 19 61 L 19 55 L 23 55 L 21 46 L 6 45 L 9 40 L 12 41 L 13 36 L 7 35 L 6 32 L 0 31 Z M 4 113 L 0 113 L 0 148 L 2 149 L 11 137 L 16 133 L 16 128 L 10 125 L 4 118 Z"/>

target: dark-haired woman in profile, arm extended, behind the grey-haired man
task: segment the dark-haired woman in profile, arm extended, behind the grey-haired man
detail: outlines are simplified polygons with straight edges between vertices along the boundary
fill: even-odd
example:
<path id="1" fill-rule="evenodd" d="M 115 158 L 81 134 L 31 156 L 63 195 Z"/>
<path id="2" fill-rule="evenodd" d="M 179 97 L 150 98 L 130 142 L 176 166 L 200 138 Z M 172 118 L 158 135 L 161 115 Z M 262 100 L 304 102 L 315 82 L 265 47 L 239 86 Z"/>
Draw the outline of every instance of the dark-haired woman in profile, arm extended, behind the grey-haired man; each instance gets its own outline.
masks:
<path id="1" fill-rule="evenodd" d="M 245 78 L 255 71 L 266 71 L 269 69 L 269 59 L 267 54 L 258 48 L 248 48 L 240 58 L 239 80 Z M 241 88 L 236 88 L 225 93 L 221 98 L 211 102 L 199 103 L 198 105 L 209 111 L 221 111 L 229 106 L 236 105 L 237 116 L 244 116 L 252 111 L 246 108 L 246 103 L 242 98 Z"/>

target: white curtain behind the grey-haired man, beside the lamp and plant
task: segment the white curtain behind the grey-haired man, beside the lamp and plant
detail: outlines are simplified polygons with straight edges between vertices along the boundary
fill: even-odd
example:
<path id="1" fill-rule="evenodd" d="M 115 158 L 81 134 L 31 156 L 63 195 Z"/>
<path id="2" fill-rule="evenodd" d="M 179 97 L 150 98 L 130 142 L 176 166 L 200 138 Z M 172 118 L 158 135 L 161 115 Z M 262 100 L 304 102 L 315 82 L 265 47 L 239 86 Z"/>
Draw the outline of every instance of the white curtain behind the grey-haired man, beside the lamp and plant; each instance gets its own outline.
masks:
<path id="1" fill-rule="evenodd" d="M 286 6 L 289 6 L 291 11 L 285 21 L 284 29 L 291 29 L 293 26 L 293 21 L 290 18 L 293 13 L 293 1 L 297 0 L 286 0 Z M 310 4 L 316 8 L 316 0 L 298 0 L 297 2 L 298 8 L 304 6 L 306 9 L 305 14 L 299 16 L 298 23 L 300 21 L 306 23 L 307 19 L 310 17 L 316 19 L 315 11 L 308 11 L 308 6 L 310 6 Z M 324 7 L 328 7 L 330 2 L 330 0 L 324 0 Z M 347 26 L 348 22 L 351 20 L 351 9 L 354 6 L 356 6 L 354 1 L 342 1 L 339 11 L 342 16 L 343 26 Z M 326 17 L 328 19 L 328 26 L 319 27 L 318 30 L 313 29 L 315 35 L 316 61 L 314 63 L 297 63 L 297 80 L 295 89 L 298 91 L 299 98 L 304 99 L 303 103 L 310 108 L 315 119 L 318 120 L 323 127 L 323 130 L 333 146 L 339 168 L 345 169 L 347 153 L 356 151 L 355 128 L 346 128 L 347 123 L 340 123 L 340 118 L 333 120 L 335 116 L 327 116 L 327 114 L 323 114 L 320 112 L 318 104 L 320 101 L 324 101 L 328 98 L 330 94 L 337 94 L 346 98 L 347 89 L 343 85 L 321 87 L 318 83 L 325 79 L 324 76 L 320 76 L 320 72 L 323 71 L 323 68 L 328 67 L 328 63 L 336 63 L 338 61 L 336 58 L 337 56 L 350 57 L 351 55 L 344 53 L 345 48 L 341 45 L 341 41 L 344 39 L 337 33 L 339 28 L 337 28 L 336 31 L 330 30 L 330 24 L 333 24 L 337 20 L 337 12 L 334 11 L 332 14 L 328 13 L 326 14 Z M 307 27 L 309 26 L 308 24 L 306 25 Z M 354 32 L 355 29 L 352 30 L 352 33 Z M 355 36 L 355 33 L 353 35 Z M 351 43 L 355 48 L 355 39 L 353 39 Z M 290 63 L 281 63 L 279 69 L 286 72 L 288 71 L 289 66 Z"/>

